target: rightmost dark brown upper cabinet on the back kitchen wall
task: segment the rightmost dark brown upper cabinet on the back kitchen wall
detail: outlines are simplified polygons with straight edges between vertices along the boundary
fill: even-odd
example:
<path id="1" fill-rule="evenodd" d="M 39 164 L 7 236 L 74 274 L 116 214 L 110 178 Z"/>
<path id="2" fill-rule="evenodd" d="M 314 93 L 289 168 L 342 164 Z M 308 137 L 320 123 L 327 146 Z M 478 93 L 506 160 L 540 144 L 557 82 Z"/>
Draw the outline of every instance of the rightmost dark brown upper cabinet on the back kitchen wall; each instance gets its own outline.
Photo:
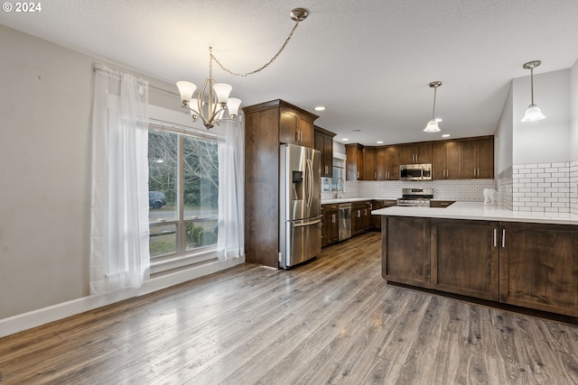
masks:
<path id="1" fill-rule="evenodd" d="M 494 178 L 494 138 L 484 137 L 461 143 L 461 179 Z"/>

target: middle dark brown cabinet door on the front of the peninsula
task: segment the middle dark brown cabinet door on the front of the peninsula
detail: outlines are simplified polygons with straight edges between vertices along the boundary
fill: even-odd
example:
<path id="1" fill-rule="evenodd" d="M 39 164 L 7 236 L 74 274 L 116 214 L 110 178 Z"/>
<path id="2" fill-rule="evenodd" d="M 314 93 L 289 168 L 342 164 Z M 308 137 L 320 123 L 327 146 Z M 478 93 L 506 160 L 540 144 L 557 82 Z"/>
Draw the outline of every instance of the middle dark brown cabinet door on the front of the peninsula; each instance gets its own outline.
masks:
<path id="1" fill-rule="evenodd" d="M 432 219 L 432 289 L 499 300 L 499 222 Z"/>

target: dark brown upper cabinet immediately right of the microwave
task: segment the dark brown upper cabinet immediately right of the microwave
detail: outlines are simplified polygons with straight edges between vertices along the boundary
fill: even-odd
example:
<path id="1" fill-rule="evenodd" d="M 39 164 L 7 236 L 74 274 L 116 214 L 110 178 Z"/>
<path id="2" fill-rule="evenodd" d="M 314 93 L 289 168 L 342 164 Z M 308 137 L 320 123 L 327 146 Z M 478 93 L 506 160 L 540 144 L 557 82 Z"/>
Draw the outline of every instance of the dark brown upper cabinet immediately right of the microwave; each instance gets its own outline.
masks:
<path id="1" fill-rule="evenodd" d="M 461 142 L 432 144 L 433 179 L 461 179 Z"/>

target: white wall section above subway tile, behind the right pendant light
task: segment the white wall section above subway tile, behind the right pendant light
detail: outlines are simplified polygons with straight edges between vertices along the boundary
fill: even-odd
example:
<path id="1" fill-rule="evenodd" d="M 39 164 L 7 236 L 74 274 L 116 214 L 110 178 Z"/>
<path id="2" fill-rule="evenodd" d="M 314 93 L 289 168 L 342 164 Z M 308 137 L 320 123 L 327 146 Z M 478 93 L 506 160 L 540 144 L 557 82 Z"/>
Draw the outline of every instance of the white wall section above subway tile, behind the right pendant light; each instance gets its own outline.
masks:
<path id="1" fill-rule="evenodd" d="M 513 164 L 571 159 L 570 69 L 544 74 L 539 69 L 534 72 L 534 101 L 546 115 L 544 120 L 520 122 L 530 104 L 530 77 L 513 79 Z"/>

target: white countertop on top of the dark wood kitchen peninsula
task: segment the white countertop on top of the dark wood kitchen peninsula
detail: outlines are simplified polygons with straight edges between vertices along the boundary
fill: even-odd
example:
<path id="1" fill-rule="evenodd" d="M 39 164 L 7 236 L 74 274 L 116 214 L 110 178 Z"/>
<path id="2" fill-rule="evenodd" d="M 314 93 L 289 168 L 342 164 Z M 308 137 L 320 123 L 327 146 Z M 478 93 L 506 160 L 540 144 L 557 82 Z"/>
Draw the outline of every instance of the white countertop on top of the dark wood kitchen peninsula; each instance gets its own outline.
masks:
<path id="1" fill-rule="evenodd" d="M 371 214 L 578 225 L 578 215 L 575 214 L 512 211 L 500 206 L 484 205 L 482 202 L 455 202 L 451 206 L 443 208 L 392 206 L 373 210 Z"/>

